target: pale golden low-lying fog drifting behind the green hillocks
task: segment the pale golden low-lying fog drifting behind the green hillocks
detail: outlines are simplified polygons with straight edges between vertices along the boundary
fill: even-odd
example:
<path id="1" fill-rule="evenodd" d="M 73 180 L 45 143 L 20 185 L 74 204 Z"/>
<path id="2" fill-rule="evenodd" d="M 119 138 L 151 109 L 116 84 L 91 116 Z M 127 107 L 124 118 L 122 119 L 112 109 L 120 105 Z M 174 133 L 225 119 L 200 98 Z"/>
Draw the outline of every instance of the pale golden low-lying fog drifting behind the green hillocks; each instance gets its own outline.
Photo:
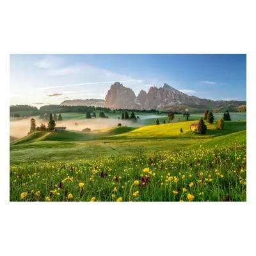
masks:
<path id="1" fill-rule="evenodd" d="M 41 123 L 47 126 L 48 122 L 42 121 L 39 118 L 34 118 L 36 120 L 36 126 L 40 126 Z M 10 121 L 10 136 L 14 136 L 16 138 L 22 138 L 28 135 L 30 130 L 30 118 L 25 118 L 21 120 L 11 120 Z M 75 125 L 77 123 L 77 125 Z M 63 120 L 57 121 L 56 126 L 65 126 L 67 130 L 76 130 L 82 131 L 84 128 L 88 127 L 92 131 L 117 127 L 118 123 L 121 123 L 122 126 L 130 126 L 130 127 L 138 127 L 137 123 L 133 123 L 130 120 L 118 120 L 116 118 L 96 118 L 96 119 L 71 119 L 71 120 Z"/>

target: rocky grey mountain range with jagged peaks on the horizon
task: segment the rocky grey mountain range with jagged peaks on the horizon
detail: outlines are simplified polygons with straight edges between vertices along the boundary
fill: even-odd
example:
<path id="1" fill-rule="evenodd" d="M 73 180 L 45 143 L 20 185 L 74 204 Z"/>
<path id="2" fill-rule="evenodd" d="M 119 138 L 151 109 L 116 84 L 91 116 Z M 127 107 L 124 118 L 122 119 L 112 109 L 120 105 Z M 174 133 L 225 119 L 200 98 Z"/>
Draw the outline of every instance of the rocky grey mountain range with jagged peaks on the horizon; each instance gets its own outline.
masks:
<path id="1" fill-rule="evenodd" d="M 105 106 L 110 109 L 159 109 L 182 112 L 188 109 L 190 112 L 202 112 L 204 109 L 212 111 L 246 111 L 246 101 L 237 100 L 209 100 L 189 96 L 186 93 L 164 84 L 163 87 L 150 87 L 148 92 L 141 90 L 136 96 L 131 88 L 116 82 L 111 85 L 105 100 L 65 100 L 61 102 L 65 106 Z"/>

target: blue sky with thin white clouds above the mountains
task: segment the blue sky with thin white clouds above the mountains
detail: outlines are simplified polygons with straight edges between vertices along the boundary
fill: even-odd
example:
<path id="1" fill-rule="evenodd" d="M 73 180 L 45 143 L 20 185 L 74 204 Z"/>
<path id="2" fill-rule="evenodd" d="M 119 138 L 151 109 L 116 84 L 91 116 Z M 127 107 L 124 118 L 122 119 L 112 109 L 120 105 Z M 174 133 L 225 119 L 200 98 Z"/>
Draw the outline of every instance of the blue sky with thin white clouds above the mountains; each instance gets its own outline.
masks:
<path id="1" fill-rule="evenodd" d="M 169 84 L 212 100 L 246 100 L 246 54 L 10 54 L 10 104 L 104 99 L 119 81 L 136 95 Z"/>

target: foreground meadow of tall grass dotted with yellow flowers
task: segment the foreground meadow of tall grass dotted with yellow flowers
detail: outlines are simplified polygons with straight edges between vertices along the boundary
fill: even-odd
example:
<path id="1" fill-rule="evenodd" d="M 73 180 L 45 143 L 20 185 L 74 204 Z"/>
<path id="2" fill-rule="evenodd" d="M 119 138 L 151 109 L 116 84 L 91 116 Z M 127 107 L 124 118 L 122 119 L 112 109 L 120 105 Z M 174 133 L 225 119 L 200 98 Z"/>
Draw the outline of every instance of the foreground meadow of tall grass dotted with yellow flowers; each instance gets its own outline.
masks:
<path id="1" fill-rule="evenodd" d="M 246 145 L 11 164 L 10 201 L 246 201 Z"/>

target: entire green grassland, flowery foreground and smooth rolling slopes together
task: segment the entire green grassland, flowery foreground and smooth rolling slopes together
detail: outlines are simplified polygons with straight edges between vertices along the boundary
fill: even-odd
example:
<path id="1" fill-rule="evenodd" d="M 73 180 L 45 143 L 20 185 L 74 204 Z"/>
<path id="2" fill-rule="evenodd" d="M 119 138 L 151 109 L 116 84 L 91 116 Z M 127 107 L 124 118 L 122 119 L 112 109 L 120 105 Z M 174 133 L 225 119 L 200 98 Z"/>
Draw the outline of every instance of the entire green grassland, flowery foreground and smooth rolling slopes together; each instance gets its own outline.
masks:
<path id="1" fill-rule="evenodd" d="M 12 141 L 10 200 L 246 201 L 246 121 L 207 124 L 205 135 L 193 122 Z"/>

